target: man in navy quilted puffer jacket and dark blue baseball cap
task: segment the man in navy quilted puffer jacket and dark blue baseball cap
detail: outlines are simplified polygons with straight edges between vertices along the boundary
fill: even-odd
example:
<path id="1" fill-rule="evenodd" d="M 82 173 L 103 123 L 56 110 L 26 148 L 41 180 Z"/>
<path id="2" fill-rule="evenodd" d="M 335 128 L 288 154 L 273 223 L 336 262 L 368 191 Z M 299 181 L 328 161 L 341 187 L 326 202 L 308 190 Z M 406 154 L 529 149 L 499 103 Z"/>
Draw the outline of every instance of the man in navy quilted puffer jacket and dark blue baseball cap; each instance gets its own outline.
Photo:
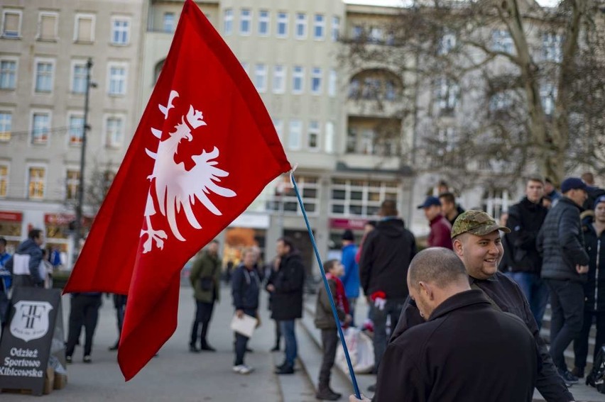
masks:
<path id="1" fill-rule="evenodd" d="M 561 184 L 562 198 L 546 216 L 538 233 L 543 256 L 542 277 L 550 292 L 550 355 L 566 384 L 578 382 L 567 369 L 563 352 L 582 330 L 584 282 L 589 257 L 584 248 L 580 208 L 586 200 L 586 184 L 569 177 Z"/>

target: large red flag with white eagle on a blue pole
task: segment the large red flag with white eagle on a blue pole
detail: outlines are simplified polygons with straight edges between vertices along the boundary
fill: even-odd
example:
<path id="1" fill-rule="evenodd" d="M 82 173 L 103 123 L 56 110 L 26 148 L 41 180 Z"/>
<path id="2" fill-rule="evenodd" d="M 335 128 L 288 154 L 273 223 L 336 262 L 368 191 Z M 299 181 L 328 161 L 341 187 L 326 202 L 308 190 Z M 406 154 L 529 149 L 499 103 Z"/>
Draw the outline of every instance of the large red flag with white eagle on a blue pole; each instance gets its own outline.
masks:
<path id="1" fill-rule="evenodd" d="M 290 163 L 239 61 L 193 1 L 65 292 L 128 294 L 126 381 L 174 333 L 180 269 Z"/>

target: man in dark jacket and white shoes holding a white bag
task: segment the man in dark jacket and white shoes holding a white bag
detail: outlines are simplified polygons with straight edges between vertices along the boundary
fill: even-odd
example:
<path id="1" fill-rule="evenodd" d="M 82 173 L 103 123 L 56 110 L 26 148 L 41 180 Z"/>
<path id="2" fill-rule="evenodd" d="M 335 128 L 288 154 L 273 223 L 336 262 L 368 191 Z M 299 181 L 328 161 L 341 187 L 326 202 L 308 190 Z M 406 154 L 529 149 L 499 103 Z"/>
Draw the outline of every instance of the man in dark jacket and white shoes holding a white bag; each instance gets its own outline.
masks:
<path id="1" fill-rule="evenodd" d="M 253 248 L 244 250 L 242 263 L 236 267 L 231 275 L 231 295 L 235 315 L 242 318 L 244 315 L 258 317 L 258 294 L 261 280 L 258 278 L 256 262 L 258 253 Z M 253 367 L 244 364 L 244 355 L 248 346 L 249 337 L 235 333 L 235 362 L 233 371 L 239 374 L 249 374 Z"/>

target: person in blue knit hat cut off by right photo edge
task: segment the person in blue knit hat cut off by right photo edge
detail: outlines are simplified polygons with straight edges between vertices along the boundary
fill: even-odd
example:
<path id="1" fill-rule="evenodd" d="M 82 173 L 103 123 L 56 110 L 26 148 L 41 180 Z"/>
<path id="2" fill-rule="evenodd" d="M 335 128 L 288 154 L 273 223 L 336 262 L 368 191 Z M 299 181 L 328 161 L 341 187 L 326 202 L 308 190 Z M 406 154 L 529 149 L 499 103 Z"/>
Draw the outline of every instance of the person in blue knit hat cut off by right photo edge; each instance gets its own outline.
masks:
<path id="1" fill-rule="evenodd" d="M 584 376 L 588 356 L 588 337 L 596 321 L 593 362 L 605 345 L 605 196 L 594 201 L 594 221 L 584 225 L 584 242 L 590 257 L 588 281 L 584 284 L 584 321 L 582 331 L 574 340 L 574 369 L 572 374 Z"/>

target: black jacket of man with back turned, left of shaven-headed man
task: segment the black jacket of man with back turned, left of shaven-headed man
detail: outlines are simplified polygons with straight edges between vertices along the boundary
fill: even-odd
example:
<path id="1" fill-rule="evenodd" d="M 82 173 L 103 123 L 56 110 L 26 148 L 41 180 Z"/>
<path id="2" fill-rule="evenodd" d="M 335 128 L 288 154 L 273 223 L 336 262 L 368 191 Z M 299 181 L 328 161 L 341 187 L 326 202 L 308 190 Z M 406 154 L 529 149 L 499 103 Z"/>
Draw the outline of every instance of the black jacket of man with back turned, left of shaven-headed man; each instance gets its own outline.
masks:
<path id="1" fill-rule="evenodd" d="M 386 298 L 408 297 L 408 267 L 416 254 L 416 240 L 403 220 L 381 220 L 361 250 L 359 277 L 364 294 L 383 291 Z"/>

